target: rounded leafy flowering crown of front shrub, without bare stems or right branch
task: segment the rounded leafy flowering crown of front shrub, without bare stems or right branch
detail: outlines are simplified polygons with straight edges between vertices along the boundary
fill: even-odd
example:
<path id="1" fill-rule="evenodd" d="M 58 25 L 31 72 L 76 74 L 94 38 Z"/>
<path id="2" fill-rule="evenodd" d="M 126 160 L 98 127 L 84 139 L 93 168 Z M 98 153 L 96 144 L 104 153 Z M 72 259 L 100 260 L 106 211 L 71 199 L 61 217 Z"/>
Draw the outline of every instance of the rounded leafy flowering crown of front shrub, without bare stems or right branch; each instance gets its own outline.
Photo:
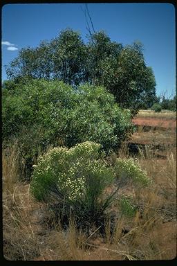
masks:
<path id="1" fill-rule="evenodd" d="M 37 200 L 48 202 L 55 186 L 66 202 L 95 200 L 114 178 L 100 148 L 100 144 L 86 141 L 70 149 L 53 148 L 39 157 L 30 183 L 32 194 Z M 95 198 L 93 190 L 97 193 Z"/>

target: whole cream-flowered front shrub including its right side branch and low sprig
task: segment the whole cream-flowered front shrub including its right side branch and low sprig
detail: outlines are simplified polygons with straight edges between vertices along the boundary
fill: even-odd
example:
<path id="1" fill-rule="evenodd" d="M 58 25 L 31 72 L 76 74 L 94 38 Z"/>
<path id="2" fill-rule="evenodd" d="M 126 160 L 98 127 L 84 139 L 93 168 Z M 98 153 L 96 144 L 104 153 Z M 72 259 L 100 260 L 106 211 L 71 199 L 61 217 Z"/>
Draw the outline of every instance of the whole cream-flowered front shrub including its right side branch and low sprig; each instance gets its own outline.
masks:
<path id="1" fill-rule="evenodd" d="M 30 191 L 35 199 L 49 204 L 55 219 L 62 219 L 64 226 L 72 214 L 79 227 L 89 228 L 91 224 L 100 227 L 106 218 L 105 211 L 119 189 L 105 193 L 115 177 L 120 184 L 122 179 L 132 179 L 140 185 L 150 183 L 147 173 L 133 159 L 119 158 L 112 167 L 104 158 L 102 145 L 92 141 L 70 149 L 53 148 L 39 157 L 37 165 L 33 166 Z M 125 215 L 133 215 L 136 211 L 127 197 L 120 199 L 120 209 Z"/>

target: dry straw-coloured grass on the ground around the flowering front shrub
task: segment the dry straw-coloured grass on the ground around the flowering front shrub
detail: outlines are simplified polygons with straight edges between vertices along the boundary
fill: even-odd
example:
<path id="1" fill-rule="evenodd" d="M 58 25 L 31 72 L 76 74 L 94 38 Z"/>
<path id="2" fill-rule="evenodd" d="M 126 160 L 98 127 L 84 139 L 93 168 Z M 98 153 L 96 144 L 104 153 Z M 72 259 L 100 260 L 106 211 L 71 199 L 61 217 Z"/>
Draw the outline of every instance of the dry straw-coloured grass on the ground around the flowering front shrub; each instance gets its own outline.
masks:
<path id="1" fill-rule="evenodd" d="M 139 132 L 145 134 L 145 132 Z M 159 135 L 160 136 L 160 135 Z M 171 136 L 172 137 L 172 136 Z M 118 215 L 114 225 L 107 221 L 103 237 L 95 228 L 89 236 L 59 224 L 48 227 L 46 205 L 32 199 L 29 185 L 19 183 L 15 145 L 3 150 L 3 253 L 8 260 L 164 260 L 176 256 L 176 150 L 165 147 L 165 159 L 152 156 L 150 148 L 138 160 L 153 179 L 151 188 L 132 184 L 119 191 L 132 195 L 136 215 Z M 120 157 L 130 157 L 127 146 Z M 111 163 L 117 155 L 112 154 Z"/>

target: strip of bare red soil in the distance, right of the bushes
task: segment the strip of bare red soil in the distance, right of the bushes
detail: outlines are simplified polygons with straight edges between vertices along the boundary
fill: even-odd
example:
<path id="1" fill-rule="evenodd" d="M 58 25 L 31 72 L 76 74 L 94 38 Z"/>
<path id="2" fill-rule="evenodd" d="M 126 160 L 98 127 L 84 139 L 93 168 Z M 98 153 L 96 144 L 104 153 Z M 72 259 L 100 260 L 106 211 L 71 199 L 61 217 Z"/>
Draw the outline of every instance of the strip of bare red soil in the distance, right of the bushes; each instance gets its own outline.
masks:
<path id="1" fill-rule="evenodd" d="M 175 128 L 176 120 L 170 119 L 159 119 L 159 118 L 134 118 L 133 123 L 135 125 L 147 125 L 150 127 L 165 127 L 165 128 Z"/>

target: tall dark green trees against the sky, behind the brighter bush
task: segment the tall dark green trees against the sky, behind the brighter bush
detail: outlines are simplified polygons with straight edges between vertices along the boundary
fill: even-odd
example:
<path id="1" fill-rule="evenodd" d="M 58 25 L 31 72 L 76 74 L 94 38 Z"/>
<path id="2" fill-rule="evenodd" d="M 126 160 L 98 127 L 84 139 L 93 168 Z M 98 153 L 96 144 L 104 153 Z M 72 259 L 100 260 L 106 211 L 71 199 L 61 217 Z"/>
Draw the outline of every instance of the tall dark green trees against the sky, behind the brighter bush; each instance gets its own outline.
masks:
<path id="1" fill-rule="evenodd" d="M 10 88 L 24 78 L 62 80 L 75 89 L 86 82 L 104 86 L 120 107 L 133 114 L 156 100 L 156 80 L 145 63 L 142 44 L 123 46 L 112 42 L 104 31 L 88 35 L 84 43 L 80 33 L 62 30 L 50 42 L 22 48 L 6 66 L 6 73 L 10 80 L 6 87 Z"/>

